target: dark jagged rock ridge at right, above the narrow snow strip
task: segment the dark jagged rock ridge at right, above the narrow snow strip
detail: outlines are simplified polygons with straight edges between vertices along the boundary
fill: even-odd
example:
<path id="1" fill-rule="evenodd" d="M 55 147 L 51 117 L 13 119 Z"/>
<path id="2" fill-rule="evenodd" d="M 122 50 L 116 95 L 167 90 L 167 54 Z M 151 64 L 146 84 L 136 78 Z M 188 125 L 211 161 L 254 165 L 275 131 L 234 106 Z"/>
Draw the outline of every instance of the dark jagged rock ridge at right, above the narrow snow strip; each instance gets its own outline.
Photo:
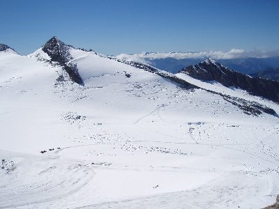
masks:
<path id="1" fill-rule="evenodd" d="M 261 96 L 273 102 L 279 102 L 279 82 L 250 77 L 240 72 L 225 68 L 212 59 L 206 59 L 197 65 L 190 65 L 179 72 L 186 73 L 204 82 L 215 81 L 227 87 L 242 88 L 251 95 Z"/>

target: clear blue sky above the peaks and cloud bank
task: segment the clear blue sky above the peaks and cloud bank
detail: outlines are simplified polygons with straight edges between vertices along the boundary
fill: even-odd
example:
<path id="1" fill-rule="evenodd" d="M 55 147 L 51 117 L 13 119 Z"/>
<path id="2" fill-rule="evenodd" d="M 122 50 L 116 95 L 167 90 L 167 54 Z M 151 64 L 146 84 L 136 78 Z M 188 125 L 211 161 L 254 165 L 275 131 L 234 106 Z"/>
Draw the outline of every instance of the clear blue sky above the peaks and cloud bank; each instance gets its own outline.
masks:
<path id="1" fill-rule="evenodd" d="M 279 49 L 278 0 L 3 0 L 0 42 L 29 54 L 52 36 L 103 54 Z"/>

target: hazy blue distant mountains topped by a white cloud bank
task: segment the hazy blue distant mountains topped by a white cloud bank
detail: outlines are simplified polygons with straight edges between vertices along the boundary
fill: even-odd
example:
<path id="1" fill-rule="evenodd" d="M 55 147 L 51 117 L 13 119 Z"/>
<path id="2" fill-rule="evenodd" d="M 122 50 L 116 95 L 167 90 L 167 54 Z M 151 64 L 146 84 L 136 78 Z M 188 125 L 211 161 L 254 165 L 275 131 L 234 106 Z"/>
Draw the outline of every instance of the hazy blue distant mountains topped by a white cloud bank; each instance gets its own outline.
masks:
<path id="1" fill-rule="evenodd" d="M 232 70 L 251 74 L 266 70 L 266 68 L 279 68 L 279 53 L 248 53 L 234 51 L 225 52 L 171 52 L 156 53 L 146 52 L 142 54 L 120 54 L 118 59 L 139 61 L 148 63 L 156 68 L 176 73 L 188 65 L 195 65 L 207 58 L 214 59 L 218 63 Z"/>

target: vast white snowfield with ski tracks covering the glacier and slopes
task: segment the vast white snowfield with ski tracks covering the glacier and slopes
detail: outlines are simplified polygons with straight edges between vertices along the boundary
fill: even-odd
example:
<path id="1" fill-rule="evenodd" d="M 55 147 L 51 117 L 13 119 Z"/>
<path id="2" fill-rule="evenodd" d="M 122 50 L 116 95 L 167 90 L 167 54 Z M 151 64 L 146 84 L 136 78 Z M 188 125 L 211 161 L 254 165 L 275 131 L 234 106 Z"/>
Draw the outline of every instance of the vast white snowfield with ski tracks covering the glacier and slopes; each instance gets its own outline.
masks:
<path id="1" fill-rule="evenodd" d="M 277 116 L 244 114 L 218 94 L 94 52 L 70 54 L 84 86 L 41 49 L 0 52 L 0 208 L 263 208 L 275 201 Z M 239 89 L 177 76 L 279 112 Z"/>

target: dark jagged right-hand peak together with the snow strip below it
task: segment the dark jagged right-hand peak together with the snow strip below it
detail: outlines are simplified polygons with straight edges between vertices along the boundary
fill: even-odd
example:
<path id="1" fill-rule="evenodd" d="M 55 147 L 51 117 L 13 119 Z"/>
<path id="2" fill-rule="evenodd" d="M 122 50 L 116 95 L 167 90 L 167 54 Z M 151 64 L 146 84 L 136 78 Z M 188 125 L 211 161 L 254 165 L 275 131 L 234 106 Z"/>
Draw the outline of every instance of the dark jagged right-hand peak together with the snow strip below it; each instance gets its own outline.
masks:
<path id="1" fill-rule="evenodd" d="M 278 100 L 278 82 L 243 75 L 225 68 L 212 59 L 206 59 L 197 65 L 190 65 L 180 70 L 176 77 L 199 88 L 268 105 L 278 112 L 278 104 L 265 99 L 268 97 Z"/>

